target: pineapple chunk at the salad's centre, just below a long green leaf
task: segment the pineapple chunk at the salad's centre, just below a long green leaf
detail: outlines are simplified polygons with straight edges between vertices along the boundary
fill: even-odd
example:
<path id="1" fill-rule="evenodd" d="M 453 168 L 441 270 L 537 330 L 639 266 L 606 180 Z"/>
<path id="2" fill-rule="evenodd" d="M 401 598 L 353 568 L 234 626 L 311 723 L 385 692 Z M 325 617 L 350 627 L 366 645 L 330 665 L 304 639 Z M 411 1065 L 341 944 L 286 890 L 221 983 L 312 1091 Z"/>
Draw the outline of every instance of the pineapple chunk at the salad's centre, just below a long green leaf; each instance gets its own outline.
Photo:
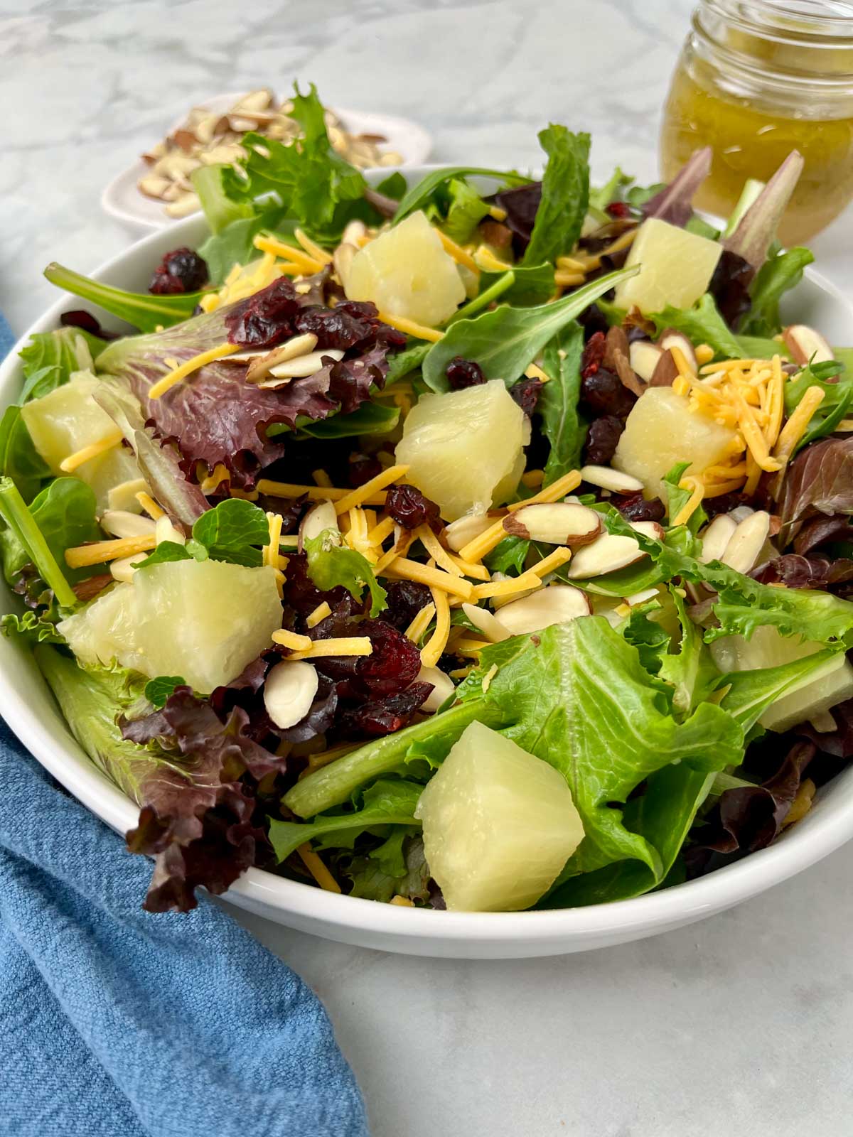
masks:
<path id="1" fill-rule="evenodd" d="M 506 501 L 524 470 L 529 420 L 499 379 L 423 395 L 406 416 L 398 462 L 445 521 Z"/>

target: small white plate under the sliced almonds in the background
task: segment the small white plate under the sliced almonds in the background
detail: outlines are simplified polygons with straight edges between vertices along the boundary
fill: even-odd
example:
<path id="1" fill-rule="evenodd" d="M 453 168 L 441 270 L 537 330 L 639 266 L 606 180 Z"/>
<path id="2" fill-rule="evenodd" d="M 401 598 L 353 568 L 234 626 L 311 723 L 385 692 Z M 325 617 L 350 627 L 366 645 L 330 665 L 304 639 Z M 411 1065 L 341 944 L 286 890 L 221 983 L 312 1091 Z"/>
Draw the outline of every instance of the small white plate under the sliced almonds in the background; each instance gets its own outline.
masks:
<path id="1" fill-rule="evenodd" d="M 215 99 L 198 103 L 198 106 L 224 113 L 233 107 L 245 93 L 245 91 L 238 91 L 231 94 L 220 94 Z M 396 150 L 401 156 L 403 161 L 399 166 L 378 166 L 375 167 L 378 169 L 391 173 L 394 169 L 420 166 L 430 156 L 432 136 L 409 118 L 373 114 L 367 110 L 333 109 L 350 134 L 381 134 L 387 139 L 387 142 L 382 143 L 382 149 Z M 163 136 L 165 138 L 166 134 L 177 130 L 185 118 L 187 114 L 183 114 L 168 131 L 164 132 Z M 131 225 L 136 231 L 172 229 L 177 224 L 177 221 L 166 214 L 165 202 L 147 198 L 136 188 L 140 177 L 144 177 L 148 172 L 149 167 L 141 158 L 123 169 L 103 190 L 101 207 L 110 217 Z"/>

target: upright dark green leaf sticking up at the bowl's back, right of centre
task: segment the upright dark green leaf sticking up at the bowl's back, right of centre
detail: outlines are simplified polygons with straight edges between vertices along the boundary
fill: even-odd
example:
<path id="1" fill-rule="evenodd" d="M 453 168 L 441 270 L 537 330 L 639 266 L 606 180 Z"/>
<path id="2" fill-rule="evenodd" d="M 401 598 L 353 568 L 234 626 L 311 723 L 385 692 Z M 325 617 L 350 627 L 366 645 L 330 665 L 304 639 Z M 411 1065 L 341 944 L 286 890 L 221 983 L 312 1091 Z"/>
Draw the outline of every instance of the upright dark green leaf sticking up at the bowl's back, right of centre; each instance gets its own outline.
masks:
<path id="1" fill-rule="evenodd" d="M 553 262 L 573 249 L 589 202 L 589 135 L 550 123 L 539 132 L 539 143 L 548 164 L 524 265 Z"/>

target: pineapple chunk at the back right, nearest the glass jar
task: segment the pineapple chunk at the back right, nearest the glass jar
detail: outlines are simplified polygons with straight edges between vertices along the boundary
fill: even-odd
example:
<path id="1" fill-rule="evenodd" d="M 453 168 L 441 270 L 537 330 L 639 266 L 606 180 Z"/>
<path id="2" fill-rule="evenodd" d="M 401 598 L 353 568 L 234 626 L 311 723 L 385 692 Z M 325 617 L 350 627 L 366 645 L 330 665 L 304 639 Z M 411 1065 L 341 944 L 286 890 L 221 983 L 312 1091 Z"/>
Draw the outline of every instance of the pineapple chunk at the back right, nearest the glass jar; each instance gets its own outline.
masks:
<path id="1" fill-rule="evenodd" d="M 707 291 L 722 246 L 669 222 L 644 221 L 626 260 L 641 271 L 616 287 L 620 308 L 635 305 L 640 312 L 661 312 L 668 304 L 691 308 Z"/>

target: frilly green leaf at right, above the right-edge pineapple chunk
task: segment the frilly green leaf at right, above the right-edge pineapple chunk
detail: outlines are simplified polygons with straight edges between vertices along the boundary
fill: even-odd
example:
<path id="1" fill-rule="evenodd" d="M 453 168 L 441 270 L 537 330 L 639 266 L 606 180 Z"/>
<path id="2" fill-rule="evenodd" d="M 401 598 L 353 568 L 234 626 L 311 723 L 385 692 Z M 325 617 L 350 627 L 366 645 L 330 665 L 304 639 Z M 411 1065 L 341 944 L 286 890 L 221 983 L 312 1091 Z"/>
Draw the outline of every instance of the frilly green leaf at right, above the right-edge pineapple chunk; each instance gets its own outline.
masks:
<path id="1" fill-rule="evenodd" d="M 693 583 L 711 584 L 717 590 L 713 612 L 720 626 L 705 632 L 706 644 L 722 636 L 748 639 L 756 628 L 765 624 L 776 628 L 781 636 L 802 636 L 827 645 L 843 642 L 853 631 L 853 604 L 848 600 L 819 590 L 760 584 L 717 561 L 701 564 L 672 543 L 631 529 L 618 509 L 611 508 L 604 521 L 611 533 L 633 537 L 665 580 L 681 576 Z"/>

